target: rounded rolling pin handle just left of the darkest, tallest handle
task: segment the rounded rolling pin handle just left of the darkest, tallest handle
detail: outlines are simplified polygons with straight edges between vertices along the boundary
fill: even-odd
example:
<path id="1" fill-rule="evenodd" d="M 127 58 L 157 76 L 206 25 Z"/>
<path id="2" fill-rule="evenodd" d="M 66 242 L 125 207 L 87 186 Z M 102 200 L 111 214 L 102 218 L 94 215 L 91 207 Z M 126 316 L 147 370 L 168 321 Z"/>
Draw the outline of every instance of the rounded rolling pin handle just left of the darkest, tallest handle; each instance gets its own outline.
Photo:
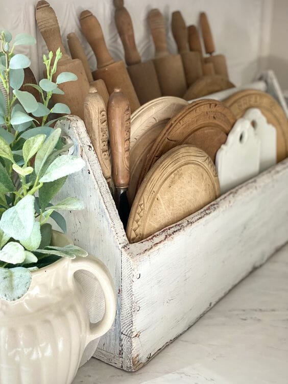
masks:
<path id="1" fill-rule="evenodd" d="M 80 24 L 81 30 L 96 56 L 98 69 L 113 64 L 114 60 L 108 52 L 98 19 L 86 10 L 81 12 Z"/>

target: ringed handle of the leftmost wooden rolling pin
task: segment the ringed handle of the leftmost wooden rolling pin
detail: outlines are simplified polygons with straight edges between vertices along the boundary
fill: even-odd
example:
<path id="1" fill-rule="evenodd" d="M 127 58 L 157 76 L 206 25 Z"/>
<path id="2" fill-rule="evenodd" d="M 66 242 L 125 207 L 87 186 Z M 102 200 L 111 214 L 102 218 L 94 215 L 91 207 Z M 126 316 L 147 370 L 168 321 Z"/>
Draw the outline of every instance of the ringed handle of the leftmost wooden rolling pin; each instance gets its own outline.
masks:
<path id="1" fill-rule="evenodd" d="M 40 0 L 36 5 L 36 21 L 43 36 L 43 39 L 49 49 L 54 54 L 60 48 L 62 52 L 62 59 L 68 59 L 59 28 L 56 13 L 54 9 L 45 0 Z"/>

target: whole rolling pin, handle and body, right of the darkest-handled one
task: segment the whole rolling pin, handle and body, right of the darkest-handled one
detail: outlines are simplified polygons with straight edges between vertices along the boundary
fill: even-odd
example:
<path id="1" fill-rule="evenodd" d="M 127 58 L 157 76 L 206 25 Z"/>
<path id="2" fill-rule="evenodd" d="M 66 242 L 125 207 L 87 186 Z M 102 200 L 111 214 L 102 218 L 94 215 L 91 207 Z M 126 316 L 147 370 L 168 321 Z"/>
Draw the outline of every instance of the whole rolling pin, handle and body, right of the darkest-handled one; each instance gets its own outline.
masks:
<path id="1" fill-rule="evenodd" d="M 167 48 L 164 18 L 159 9 L 152 9 L 148 22 L 155 44 L 154 65 L 163 96 L 182 97 L 187 89 L 180 55 L 171 55 Z"/>

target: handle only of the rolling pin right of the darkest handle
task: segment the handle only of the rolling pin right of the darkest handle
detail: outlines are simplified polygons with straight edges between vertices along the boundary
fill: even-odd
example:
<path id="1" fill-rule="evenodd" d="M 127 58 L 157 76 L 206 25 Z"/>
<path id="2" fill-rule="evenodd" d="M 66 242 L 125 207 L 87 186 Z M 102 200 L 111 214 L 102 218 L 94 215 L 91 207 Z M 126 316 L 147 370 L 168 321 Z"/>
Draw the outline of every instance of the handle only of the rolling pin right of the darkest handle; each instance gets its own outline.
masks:
<path id="1" fill-rule="evenodd" d="M 169 55 L 164 17 L 159 9 L 152 9 L 148 13 L 148 22 L 155 44 L 155 58 Z"/>

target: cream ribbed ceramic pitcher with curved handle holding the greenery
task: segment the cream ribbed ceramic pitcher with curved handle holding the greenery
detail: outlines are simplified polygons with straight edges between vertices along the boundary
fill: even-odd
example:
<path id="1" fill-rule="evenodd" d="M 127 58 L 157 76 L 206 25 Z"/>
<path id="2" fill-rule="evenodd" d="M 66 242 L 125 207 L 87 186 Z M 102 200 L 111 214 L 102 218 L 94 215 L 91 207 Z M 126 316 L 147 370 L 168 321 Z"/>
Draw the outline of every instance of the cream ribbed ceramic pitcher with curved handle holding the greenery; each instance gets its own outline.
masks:
<path id="1" fill-rule="evenodd" d="M 56 241 L 55 241 L 56 237 Z M 69 243 L 54 233 L 54 245 Z M 90 324 L 78 270 L 91 272 L 102 287 L 105 314 Z M 106 333 L 116 311 L 113 284 L 97 259 L 62 258 L 32 272 L 28 292 L 0 299 L 0 384 L 70 384 L 87 344 Z"/>

